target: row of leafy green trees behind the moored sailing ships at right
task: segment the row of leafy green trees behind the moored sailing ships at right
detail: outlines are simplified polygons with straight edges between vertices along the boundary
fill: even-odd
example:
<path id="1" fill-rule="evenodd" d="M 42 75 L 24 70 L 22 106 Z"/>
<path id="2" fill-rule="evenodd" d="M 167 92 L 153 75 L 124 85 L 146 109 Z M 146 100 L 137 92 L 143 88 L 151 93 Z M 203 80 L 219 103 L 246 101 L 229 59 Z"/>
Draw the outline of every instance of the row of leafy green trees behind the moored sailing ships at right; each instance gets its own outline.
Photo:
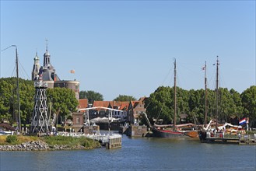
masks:
<path id="1" fill-rule="evenodd" d="M 207 91 L 208 120 L 216 118 L 216 92 Z M 234 89 L 219 89 L 218 118 L 230 122 L 232 118 L 250 117 L 251 124 L 256 121 L 256 86 L 251 86 L 241 94 Z M 174 118 L 174 88 L 160 86 L 146 99 L 149 117 L 161 118 L 170 124 Z M 188 120 L 203 124 L 205 118 L 205 90 L 184 90 L 177 88 L 177 114 L 188 115 Z"/>

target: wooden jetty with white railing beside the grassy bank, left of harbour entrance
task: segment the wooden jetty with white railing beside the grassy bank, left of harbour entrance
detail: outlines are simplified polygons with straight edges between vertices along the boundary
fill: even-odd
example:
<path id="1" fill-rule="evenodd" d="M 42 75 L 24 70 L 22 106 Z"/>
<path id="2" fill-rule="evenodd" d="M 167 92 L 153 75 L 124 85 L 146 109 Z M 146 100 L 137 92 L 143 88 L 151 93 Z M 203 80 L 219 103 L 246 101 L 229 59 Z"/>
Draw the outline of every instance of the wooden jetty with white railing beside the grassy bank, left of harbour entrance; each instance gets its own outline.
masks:
<path id="1" fill-rule="evenodd" d="M 86 137 L 99 141 L 107 149 L 121 148 L 121 134 L 84 134 L 81 132 L 58 132 L 61 136 Z"/>

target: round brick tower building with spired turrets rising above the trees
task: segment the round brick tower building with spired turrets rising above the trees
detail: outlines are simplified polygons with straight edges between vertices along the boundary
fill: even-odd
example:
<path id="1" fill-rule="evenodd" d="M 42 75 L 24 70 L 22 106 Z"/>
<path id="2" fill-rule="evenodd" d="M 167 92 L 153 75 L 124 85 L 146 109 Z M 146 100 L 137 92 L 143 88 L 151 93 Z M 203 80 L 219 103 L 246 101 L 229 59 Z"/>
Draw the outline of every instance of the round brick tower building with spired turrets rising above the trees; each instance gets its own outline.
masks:
<path id="1" fill-rule="evenodd" d="M 48 88 L 53 89 L 54 87 L 65 87 L 67 89 L 72 89 L 75 92 L 76 99 L 79 100 L 79 82 L 71 80 L 61 80 L 55 72 L 55 68 L 51 65 L 51 55 L 47 50 L 44 53 L 44 65 L 40 66 L 39 57 L 33 58 L 33 71 L 32 80 L 42 80 L 47 82 Z"/>

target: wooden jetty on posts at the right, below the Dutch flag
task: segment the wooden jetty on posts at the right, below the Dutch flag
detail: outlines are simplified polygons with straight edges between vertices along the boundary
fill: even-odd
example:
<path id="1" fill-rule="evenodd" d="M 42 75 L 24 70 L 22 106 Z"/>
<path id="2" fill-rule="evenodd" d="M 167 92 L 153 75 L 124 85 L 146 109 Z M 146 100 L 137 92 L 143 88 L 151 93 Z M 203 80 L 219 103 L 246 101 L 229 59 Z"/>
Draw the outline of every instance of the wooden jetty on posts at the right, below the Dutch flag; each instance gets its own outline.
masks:
<path id="1" fill-rule="evenodd" d="M 223 144 L 239 144 L 239 145 L 256 145 L 255 134 L 207 134 L 205 140 L 210 143 L 223 143 Z"/>

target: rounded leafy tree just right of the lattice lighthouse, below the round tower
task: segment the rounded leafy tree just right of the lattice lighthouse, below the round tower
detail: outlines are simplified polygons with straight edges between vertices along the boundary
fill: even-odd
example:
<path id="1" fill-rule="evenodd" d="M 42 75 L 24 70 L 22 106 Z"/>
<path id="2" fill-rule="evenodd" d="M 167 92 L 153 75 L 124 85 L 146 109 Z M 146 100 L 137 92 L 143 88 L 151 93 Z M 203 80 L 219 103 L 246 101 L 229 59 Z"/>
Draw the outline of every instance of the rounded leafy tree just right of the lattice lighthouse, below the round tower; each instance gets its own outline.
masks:
<path id="1" fill-rule="evenodd" d="M 47 100 L 52 103 L 51 113 L 60 114 L 62 117 L 75 112 L 79 105 L 78 100 L 75 98 L 75 92 L 66 88 L 47 89 Z"/>

